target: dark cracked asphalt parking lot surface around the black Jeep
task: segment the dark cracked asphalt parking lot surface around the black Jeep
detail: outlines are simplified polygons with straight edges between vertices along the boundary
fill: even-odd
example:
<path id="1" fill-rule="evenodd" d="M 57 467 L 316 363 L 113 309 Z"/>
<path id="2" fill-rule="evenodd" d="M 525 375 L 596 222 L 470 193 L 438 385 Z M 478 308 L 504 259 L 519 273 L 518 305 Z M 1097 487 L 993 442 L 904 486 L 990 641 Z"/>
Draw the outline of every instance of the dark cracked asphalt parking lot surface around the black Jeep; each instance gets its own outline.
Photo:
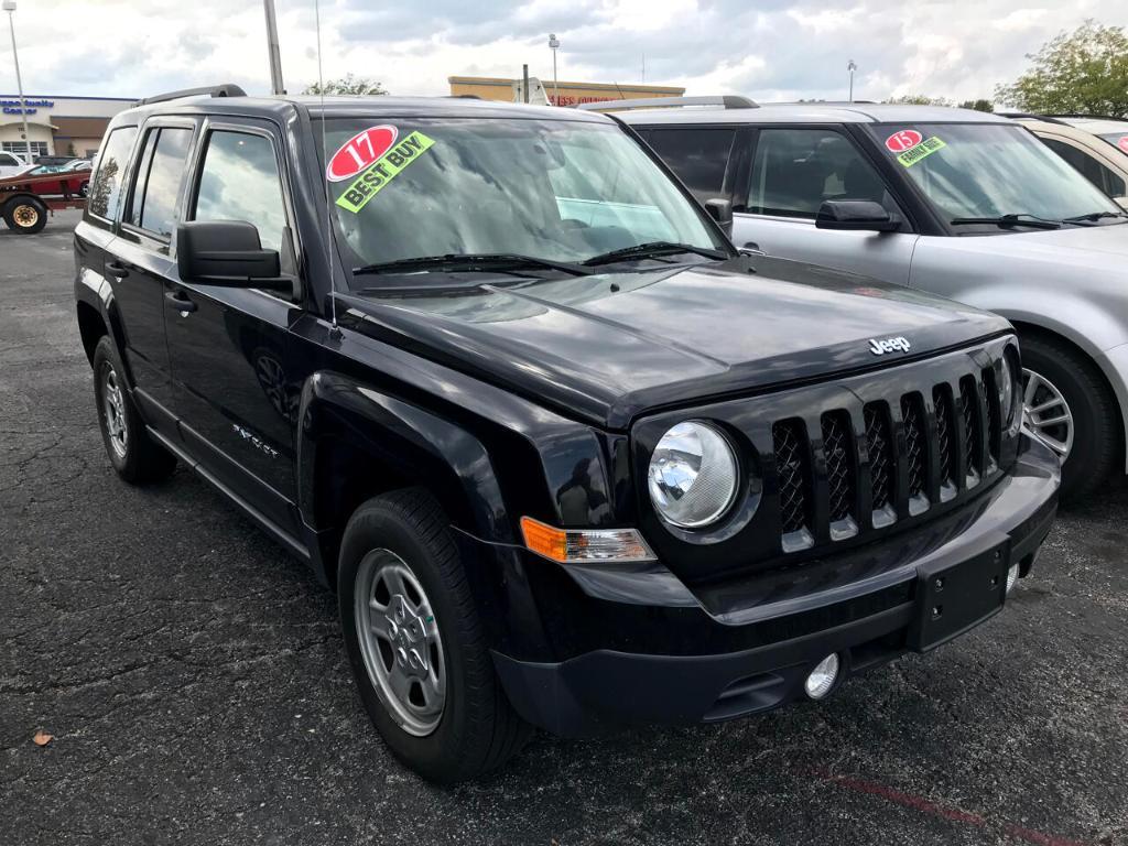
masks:
<path id="1" fill-rule="evenodd" d="M 111 470 L 76 220 L 0 229 L 0 844 L 1128 844 L 1128 486 L 1063 515 L 1004 614 L 821 705 L 539 735 L 434 788 L 303 565 L 187 472 Z"/>

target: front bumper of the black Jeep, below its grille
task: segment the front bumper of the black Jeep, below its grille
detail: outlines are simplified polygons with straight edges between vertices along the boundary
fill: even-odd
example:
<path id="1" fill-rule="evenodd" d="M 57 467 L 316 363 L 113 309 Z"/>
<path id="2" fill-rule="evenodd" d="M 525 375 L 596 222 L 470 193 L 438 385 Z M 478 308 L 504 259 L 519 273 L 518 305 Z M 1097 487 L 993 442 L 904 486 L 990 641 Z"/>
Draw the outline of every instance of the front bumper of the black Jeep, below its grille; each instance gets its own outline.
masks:
<path id="1" fill-rule="evenodd" d="M 927 651 L 1001 610 L 1002 589 L 990 607 L 970 611 L 950 591 L 944 601 L 953 626 L 928 633 L 937 575 L 959 584 L 958 573 L 982 574 L 995 584 L 993 573 L 1005 581 L 1008 564 L 1019 564 L 1023 576 L 1030 572 L 1056 515 L 1059 478 L 1054 453 L 1029 439 L 1012 473 L 969 506 L 944 543 L 906 564 L 905 550 L 918 548 L 914 538 L 891 539 L 890 559 L 902 558 L 884 573 L 778 602 L 733 607 L 733 596 L 764 598 L 746 585 L 690 607 L 684 591 L 668 581 L 655 589 L 649 573 L 638 574 L 638 594 L 647 597 L 640 606 L 627 599 L 629 579 L 622 574 L 610 582 L 580 579 L 591 603 L 585 625 L 556 631 L 572 654 L 545 662 L 495 651 L 497 675 L 523 719 L 562 737 L 636 723 L 717 722 L 785 705 L 804 697 L 807 675 L 831 652 L 843 663 L 840 684 L 905 652 Z M 567 609 L 557 599 L 554 615 L 553 605 L 541 602 L 541 617 L 546 628 L 561 629 Z M 601 638 L 606 645 L 597 646 Z"/>

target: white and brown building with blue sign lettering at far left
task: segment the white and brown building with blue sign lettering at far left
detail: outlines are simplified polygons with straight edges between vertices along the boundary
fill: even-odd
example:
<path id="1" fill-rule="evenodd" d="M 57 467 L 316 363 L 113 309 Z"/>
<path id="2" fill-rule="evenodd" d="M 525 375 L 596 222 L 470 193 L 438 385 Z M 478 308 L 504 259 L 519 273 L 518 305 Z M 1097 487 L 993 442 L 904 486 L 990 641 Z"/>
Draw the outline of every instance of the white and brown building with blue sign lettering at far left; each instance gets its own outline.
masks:
<path id="1" fill-rule="evenodd" d="M 109 120 L 136 100 L 129 97 L 26 95 L 32 155 L 82 156 L 98 151 Z M 19 96 L 0 94 L 0 149 L 24 152 L 24 109 Z"/>

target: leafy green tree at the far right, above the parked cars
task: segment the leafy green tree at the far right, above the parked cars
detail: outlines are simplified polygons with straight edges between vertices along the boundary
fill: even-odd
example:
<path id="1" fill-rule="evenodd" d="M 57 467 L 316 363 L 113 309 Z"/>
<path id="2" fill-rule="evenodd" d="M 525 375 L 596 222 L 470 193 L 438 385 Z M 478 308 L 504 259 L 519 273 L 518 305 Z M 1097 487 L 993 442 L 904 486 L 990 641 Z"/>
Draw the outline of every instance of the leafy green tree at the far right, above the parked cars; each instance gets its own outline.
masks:
<path id="1" fill-rule="evenodd" d="M 1023 112 L 1128 116 L 1128 35 L 1086 20 L 1028 53 L 1031 68 L 995 97 Z"/>

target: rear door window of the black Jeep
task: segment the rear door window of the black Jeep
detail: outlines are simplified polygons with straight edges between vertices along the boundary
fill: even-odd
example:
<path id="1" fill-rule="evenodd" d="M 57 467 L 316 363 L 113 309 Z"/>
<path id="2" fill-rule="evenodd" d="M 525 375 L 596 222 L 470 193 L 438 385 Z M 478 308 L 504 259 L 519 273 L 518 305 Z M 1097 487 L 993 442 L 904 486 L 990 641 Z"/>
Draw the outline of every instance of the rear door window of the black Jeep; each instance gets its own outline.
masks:
<path id="1" fill-rule="evenodd" d="M 146 135 L 133 180 L 130 223 L 162 238 L 173 235 L 191 141 L 192 130 L 180 126 L 153 129 Z"/>

